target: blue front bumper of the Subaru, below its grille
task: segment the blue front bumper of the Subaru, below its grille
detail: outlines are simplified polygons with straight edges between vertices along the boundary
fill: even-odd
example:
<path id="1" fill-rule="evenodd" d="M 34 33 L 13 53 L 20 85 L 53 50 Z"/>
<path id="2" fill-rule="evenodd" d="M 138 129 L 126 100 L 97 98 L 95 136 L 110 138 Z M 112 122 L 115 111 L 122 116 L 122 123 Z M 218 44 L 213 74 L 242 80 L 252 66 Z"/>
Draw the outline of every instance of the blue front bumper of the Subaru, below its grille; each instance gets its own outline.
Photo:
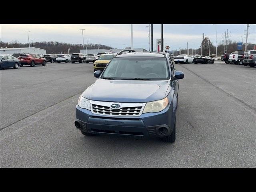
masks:
<path id="1" fill-rule="evenodd" d="M 115 134 L 134 137 L 164 137 L 172 133 L 175 109 L 168 105 L 163 111 L 145 113 L 137 117 L 113 117 L 93 114 L 76 105 L 76 128 L 93 134 Z M 161 134 L 160 128 L 166 128 Z"/>

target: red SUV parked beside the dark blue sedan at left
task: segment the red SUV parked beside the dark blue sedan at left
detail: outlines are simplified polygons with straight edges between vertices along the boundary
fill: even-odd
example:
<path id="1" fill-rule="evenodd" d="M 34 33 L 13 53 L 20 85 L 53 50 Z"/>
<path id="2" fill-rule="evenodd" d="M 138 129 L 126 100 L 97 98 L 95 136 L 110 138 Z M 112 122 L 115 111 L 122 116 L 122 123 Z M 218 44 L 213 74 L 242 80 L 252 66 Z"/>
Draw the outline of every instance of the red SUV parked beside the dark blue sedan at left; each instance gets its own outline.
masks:
<path id="1" fill-rule="evenodd" d="M 46 66 L 46 60 L 45 58 L 41 58 L 37 54 L 24 54 L 20 55 L 18 57 L 20 59 L 20 66 L 23 65 L 30 65 L 31 67 L 34 67 L 35 65 L 42 65 Z"/>

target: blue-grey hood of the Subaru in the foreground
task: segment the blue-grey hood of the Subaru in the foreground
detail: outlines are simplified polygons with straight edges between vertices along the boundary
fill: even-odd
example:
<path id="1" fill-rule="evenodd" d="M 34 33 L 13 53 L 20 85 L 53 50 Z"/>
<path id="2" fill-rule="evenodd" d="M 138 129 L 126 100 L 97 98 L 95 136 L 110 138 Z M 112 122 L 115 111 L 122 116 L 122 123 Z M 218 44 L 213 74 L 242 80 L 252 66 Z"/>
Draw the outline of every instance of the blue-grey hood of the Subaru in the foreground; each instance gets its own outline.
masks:
<path id="1" fill-rule="evenodd" d="M 98 79 L 82 96 L 108 102 L 150 102 L 168 95 L 170 81 L 136 81 Z"/>

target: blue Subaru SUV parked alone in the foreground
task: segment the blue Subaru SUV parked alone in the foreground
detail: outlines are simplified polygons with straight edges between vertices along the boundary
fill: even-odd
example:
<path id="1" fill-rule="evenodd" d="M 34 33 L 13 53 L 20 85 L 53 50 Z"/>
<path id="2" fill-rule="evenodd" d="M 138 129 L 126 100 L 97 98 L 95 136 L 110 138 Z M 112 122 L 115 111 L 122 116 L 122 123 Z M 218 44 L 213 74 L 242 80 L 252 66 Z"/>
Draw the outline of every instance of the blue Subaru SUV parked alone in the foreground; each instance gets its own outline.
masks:
<path id="1" fill-rule="evenodd" d="M 175 141 L 178 79 L 166 52 L 116 54 L 79 97 L 75 126 L 82 134 L 160 137 Z"/>

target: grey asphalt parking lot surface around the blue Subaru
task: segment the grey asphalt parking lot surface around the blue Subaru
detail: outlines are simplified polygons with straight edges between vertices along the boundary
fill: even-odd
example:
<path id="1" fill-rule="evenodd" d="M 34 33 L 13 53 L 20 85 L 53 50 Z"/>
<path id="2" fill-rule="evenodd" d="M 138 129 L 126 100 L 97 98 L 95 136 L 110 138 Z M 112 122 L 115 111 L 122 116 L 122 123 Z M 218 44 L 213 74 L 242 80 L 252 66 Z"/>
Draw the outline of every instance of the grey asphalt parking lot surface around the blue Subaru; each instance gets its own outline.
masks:
<path id="1" fill-rule="evenodd" d="M 86 137 L 74 126 L 92 63 L 0 70 L 0 167 L 256 167 L 256 67 L 176 64 L 176 141 Z"/>

